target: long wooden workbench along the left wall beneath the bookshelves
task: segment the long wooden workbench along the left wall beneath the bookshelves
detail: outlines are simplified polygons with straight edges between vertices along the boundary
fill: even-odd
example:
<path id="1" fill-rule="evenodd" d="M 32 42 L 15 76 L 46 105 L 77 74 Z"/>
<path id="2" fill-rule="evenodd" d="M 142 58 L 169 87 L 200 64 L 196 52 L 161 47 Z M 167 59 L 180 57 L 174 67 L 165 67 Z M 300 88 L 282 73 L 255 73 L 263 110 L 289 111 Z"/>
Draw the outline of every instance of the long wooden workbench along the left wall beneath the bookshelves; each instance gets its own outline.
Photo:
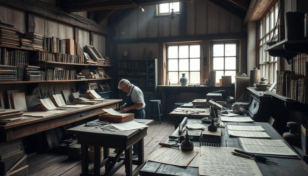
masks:
<path id="1" fill-rule="evenodd" d="M 75 121 L 104 113 L 103 108 L 119 108 L 122 100 L 104 100 L 102 103 L 83 108 L 65 108 L 67 112 L 49 117 L 28 117 L 26 121 L 14 125 L 0 125 L 1 142 L 29 136 L 41 131 L 53 129 Z"/>

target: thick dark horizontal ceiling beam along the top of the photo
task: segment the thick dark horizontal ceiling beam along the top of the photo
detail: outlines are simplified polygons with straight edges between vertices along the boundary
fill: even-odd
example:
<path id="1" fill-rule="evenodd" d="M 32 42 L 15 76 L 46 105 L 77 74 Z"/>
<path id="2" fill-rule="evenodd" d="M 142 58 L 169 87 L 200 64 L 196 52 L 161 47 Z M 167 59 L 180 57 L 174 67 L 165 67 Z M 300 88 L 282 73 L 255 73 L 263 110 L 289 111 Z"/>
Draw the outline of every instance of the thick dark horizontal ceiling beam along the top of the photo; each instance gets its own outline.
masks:
<path id="1" fill-rule="evenodd" d="M 132 0 L 138 6 L 149 6 L 161 3 L 172 2 L 172 0 Z M 196 0 L 178 0 L 184 1 L 196 1 Z M 69 12 L 80 12 L 90 10 L 106 10 L 106 9 L 126 9 L 136 7 L 129 0 L 63 0 L 61 7 Z"/>

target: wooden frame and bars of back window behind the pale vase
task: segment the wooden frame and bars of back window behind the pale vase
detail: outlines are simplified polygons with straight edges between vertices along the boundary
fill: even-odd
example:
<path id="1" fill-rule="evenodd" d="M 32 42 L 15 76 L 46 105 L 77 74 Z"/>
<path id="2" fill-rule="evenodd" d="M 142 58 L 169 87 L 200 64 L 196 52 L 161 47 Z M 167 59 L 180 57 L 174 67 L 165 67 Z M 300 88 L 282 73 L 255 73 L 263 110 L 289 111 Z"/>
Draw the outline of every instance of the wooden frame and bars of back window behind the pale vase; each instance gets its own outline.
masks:
<path id="1" fill-rule="evenodd" d="M 188 45 L 188 58 L 179 58 L 179 53 L 180 53 L 180 50 L 179 50 L 179 47 L 180 46 L 186 46 Z M 200 45 L 200 57 L 199 58 L 190 58 L 190 48 L 189 46 L 190 45 Z M 177 46 L 177 58 L 170 58 L 170 59 L 176 59 L 177 60 L 177 63 L 178 63 L 178 69 L 177 71 L 169 71 L 168 70 L 168 47 L 170 46 Z M 188 59 L 188 71 L 180 71 L 180 64 L 179 64 L 179 60 L 180 59 Z M 199 68 L 199 71 L 190 71 L 190 59 L 200 59 L 200 68 Z M 180 72 L 188 72 L 189 76 L 186 75 L 188 81 L 187 81 L 187 85 L 193 85 L 193 84 L 201 84 L 201 80 L 202 80 L 202 42 L 189 42 L 189 43 L 166 43 L 166 71 L 167 71 L 167 75 L 169 76 L 169 72 L 177 72 L 178 73 L 178 81 L 180 81 Z M 200 80 L 199 80 L 199 83 L 190 83 L 190 72 L 199 72 L 200 74 Z M 170 79 L 168 77 L 168 79 Z M 177 83 L 171 83 L 172 85 L 178 85 Z"/>

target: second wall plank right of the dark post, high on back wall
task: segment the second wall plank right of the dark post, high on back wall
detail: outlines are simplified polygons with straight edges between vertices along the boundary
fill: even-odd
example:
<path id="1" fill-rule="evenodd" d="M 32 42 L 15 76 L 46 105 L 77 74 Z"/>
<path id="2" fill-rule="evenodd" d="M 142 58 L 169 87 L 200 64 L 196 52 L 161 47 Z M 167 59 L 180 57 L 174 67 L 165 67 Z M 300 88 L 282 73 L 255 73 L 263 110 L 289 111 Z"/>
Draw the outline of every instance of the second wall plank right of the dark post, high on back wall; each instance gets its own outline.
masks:
<path id="1" fill-rule="evenodd" d="M 207 34 L 207 1 L 196 1 L 196 35 Z"/>

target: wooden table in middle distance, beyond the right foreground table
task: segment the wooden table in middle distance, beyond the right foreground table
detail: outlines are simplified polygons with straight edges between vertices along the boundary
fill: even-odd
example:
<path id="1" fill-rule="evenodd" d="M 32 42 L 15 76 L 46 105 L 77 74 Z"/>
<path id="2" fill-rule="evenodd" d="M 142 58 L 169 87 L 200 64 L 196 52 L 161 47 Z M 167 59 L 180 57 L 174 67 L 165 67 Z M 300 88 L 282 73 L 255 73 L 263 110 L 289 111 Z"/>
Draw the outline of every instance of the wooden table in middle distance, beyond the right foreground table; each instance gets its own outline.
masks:
<path id="1" fill-rule="evenodd" d="M 178 109 L 178 108 L 176 108 L 176 109 Z M 176 110 L 176 109 L 174 109 L 174 110 Z M 197 109 L 200 109 L 200 108 L 184 108 L 184 109 L 196 111 Z M 183 121 L 184 117 L 202 119 L 204 117 L 210 116 L 210 112 L 204 112 L 204 113 L 199 113 L 199 114 L 189 114 L 189 113 L 184 113 L 184 112 L 176 112 L 174 110 L 171 113 L 169 113 L 169 116 L 174 117 L 173 118 L 174 129 L 176 129 L 179 126 L 179 124 Z M 207 110 L 209 110 L 209 109 L 207 109 Z"/>

